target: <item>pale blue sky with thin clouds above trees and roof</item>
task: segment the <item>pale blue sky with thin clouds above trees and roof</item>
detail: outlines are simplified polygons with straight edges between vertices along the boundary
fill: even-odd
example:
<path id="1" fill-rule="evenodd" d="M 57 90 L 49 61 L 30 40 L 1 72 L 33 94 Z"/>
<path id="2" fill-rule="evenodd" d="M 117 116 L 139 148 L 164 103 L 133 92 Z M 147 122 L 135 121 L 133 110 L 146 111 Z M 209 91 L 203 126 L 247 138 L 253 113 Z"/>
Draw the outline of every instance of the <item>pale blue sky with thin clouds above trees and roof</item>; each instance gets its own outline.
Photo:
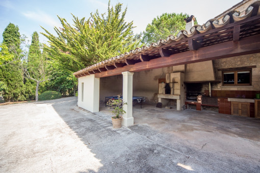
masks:
<path id="1" fill-rule="evenodd" d="M 154 17 L 163 13 L 187 13 L 194 15 L 198 24 L 203 24 L 241 0 L 111 0 L 111 5 L 115 6 L 118 2 L 122 3 L 124 8 L 127 7 L 126 21 L 133 20 L 137 26 L 134 32 L 140 33 Z M 0 0 L 0 42 L 3 41 L 2 34 L 10 22 L 18 25 L 20 34 L 31 39 L 34 31 L 44 32 L 40 26 L 55 34 L 54 26 L 61 25 L 57 15 L 72 24 L 71 13 L 79 18 L 88 18 L 96 9 L 99 13 L 105 13 L 107 6 L 108 0 Z M 40 35 L 40 41 L 46 43 L 47 39 Z"/>

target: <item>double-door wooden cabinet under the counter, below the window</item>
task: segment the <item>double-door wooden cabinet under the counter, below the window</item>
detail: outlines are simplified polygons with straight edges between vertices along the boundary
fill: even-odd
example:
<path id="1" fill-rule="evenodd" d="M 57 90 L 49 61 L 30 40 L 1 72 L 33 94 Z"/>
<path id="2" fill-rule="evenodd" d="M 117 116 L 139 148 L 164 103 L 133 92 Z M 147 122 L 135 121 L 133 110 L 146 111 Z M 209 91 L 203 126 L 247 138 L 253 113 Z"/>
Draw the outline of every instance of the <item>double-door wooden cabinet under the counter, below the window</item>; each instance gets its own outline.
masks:
<path id="1" fill-rule="evenodd" d="M 231 114 L 242 117 L 249 117 L 250 103 L 231 102 Z"/>

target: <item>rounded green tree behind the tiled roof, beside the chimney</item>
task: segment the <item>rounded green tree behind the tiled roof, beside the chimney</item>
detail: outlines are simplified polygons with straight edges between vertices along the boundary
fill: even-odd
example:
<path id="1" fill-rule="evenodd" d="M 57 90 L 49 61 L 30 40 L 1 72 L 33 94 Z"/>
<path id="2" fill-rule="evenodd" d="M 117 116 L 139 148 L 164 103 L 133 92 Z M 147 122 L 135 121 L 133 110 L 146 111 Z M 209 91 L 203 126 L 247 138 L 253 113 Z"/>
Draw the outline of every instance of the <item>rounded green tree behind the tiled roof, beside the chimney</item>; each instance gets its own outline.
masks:
<path id="1" fill-rule="evenodd" d="M 142 43 L 156 43 L 160 39 L 166 39 L 169 35 L 176 36 L 179 31 L 185 30 L 185 18 L 188 14 L 164 13 L 157 16 L 146 26 L 143 32 Z"/>

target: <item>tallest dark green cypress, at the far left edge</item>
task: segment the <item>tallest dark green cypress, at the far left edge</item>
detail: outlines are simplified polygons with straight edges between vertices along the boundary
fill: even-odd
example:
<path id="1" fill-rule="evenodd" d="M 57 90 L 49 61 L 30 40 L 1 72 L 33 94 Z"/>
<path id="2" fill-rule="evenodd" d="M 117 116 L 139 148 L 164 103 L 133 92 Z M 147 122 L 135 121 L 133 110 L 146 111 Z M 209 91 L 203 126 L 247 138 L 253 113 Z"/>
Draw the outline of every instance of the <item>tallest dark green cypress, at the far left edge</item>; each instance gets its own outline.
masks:
<path id="1" fill-rule="evenodd" d="M 3 96 L 6 101 L 18 101 L 25 100 L 23 95 L 23 72 L 21 68 L 21 61 L 18 58 L 21 53 L 20 49 L 20 33 L 18 26 L 13 23 L 5 28 L 3 33 L 3 44 L 8 47 L 10 53 L 12 53 L 12 63 L 0 66 L 0 80 L 7 86 Z"/>

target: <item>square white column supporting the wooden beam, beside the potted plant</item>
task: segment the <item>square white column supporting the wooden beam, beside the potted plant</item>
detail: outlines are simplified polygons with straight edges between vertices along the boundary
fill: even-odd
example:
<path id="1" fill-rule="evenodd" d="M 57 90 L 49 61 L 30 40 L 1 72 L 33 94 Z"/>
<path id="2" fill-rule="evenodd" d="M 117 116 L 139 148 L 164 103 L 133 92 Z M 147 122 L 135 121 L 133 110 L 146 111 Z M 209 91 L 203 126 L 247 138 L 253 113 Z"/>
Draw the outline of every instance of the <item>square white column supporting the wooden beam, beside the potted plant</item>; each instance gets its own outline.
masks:
<path id="1" fill-rule="evenodd" d="M 123 106 L 126 113 L 123 114 L 122 125 L 134 125 L 133 117 L 133 75 L 132 72 L 122 72 L 123 74 L 123 101 L 127 104 Z"/>

